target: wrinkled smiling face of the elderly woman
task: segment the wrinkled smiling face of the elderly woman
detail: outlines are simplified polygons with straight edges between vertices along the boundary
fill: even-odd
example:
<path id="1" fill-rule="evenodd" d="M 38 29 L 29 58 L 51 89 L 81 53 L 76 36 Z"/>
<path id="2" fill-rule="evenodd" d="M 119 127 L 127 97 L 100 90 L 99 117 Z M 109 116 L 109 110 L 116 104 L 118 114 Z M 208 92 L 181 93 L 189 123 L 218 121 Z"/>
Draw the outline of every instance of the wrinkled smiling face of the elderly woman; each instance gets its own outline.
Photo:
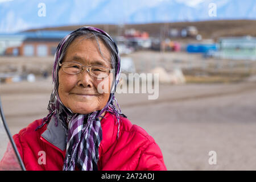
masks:
<path id="1" fill-rule="evenodd" d="M 96 40 L 76 38 L 69 45 L 63 63 L 75 61 L 85 66 L 102 65 L 111 69 L 110 52 L 101 40 L 98 40 L 98 43 L 102 54 Z M 60 68 L 58 89 L 60 100 L 73 113 L 88 114 L 101 110 L 109 100 L 112 80 L 112 73 L 100 80 L 90 76 L 86 69 L 77 75 L 70 75 Z M 103 93 L 102 89 L 104 89 Z"/>

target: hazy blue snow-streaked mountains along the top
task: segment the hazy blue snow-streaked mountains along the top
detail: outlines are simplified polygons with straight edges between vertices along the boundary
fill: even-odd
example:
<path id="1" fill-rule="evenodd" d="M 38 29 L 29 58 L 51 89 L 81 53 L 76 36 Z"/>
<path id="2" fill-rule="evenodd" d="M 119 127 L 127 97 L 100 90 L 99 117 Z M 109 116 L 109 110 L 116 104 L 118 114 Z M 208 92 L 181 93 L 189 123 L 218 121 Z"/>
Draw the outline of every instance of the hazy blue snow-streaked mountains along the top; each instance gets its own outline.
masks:
<path id="1" fill-rule="evenodd" d="M 45 5 L 45 9 L 39 6 Z M 210 3 L 216 16 L 209 16 Z M 43 9 L 42 9 L 43 8 Z M 45 16 L 40 14 L 45 10 Z M 255 0 L 0 0 L 0 32 L 72 24 L 256 19 Z"/>

